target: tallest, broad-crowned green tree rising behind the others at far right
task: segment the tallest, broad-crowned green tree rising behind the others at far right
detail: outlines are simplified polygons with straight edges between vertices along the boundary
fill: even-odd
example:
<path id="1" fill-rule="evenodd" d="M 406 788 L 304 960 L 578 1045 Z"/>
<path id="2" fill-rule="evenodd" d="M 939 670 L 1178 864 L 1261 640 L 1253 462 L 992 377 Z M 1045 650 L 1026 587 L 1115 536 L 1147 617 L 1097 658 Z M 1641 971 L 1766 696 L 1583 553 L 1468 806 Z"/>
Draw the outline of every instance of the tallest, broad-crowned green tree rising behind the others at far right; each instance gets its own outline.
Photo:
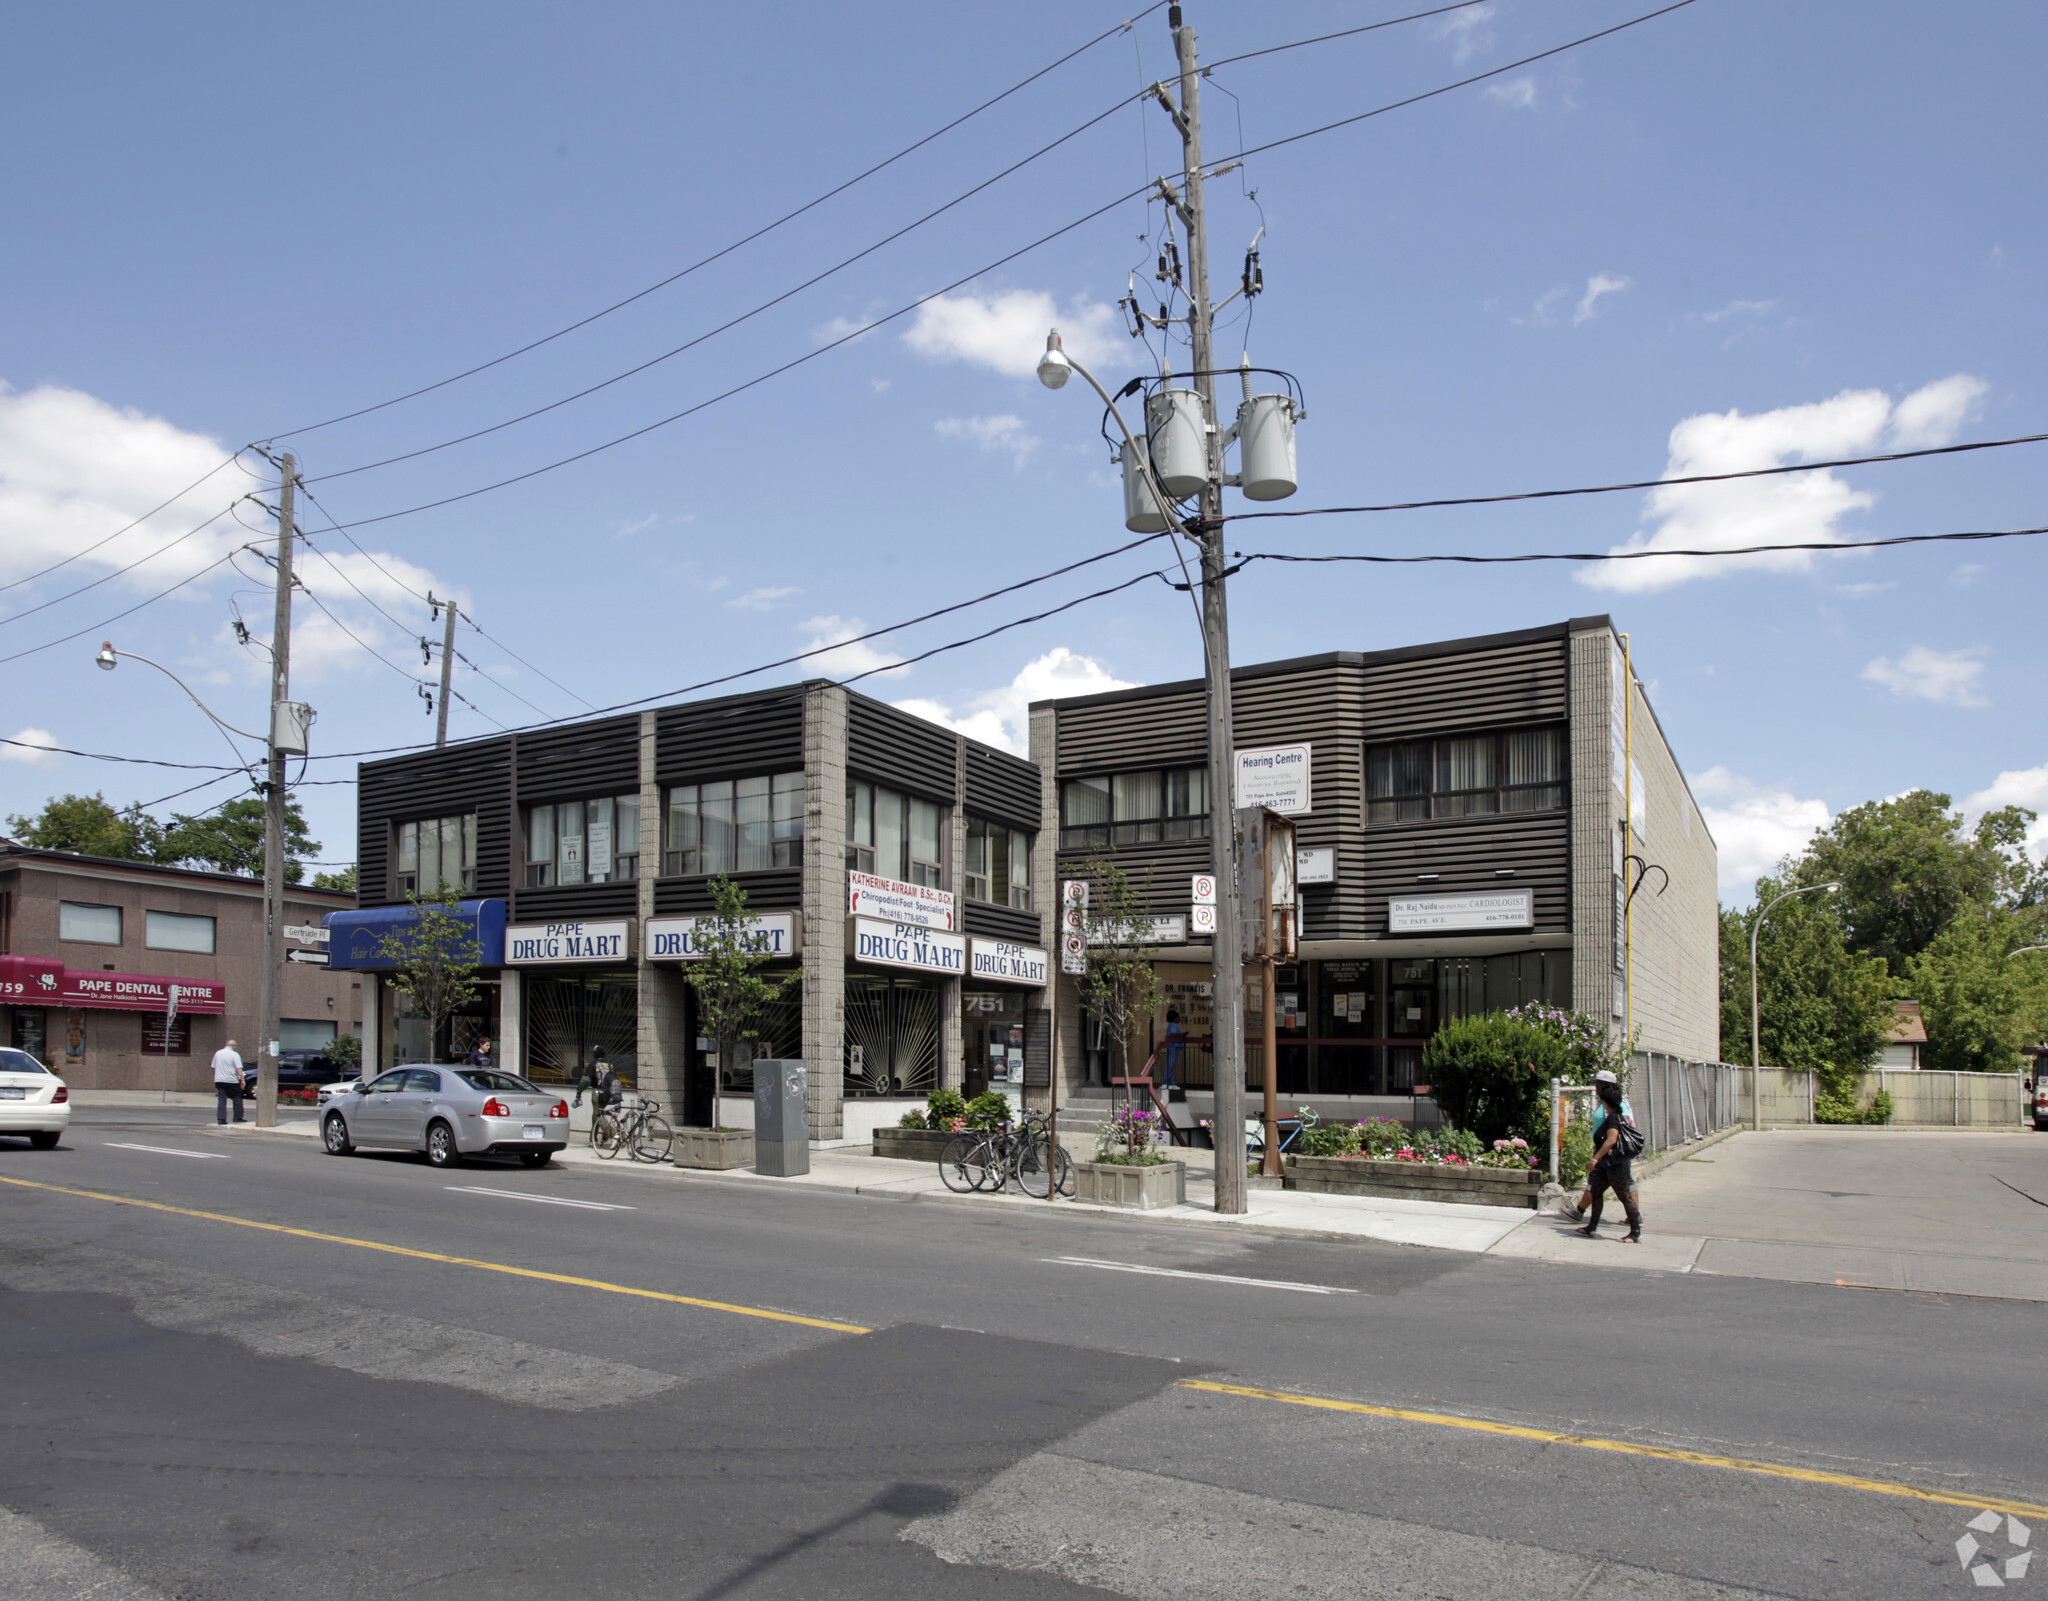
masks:
<path id="1" fill-rule="evenodd" d="M 2023 807 L 2003 807 L 1964 829 L 1946 794 L 1911 790 L 1841 813 L 1782 872 L 1786 886 L 1839 882 L 1835 915 L 1849 946 L 1898 975 L 1964 909 L 2048 899 L 2023 846 L 2032 823 Z"/>

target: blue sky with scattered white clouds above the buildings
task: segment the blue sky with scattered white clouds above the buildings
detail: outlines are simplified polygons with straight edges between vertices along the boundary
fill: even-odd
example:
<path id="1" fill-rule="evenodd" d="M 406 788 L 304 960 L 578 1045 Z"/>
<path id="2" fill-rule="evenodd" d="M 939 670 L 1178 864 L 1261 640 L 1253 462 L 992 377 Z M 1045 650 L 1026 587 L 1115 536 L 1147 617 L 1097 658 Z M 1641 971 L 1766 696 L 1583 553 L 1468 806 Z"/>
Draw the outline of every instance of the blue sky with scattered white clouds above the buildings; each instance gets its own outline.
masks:
<path id="1" fill-rule="evenodd" d="M 1225 66 L 1204 102 L 1208 152 L 1649 8 L 1493 0 Z M 459 596 L 489 635 L 459 639 L 457 688 L 473 708 L 457 704 L 451 727 L 475 735 L 489 719 L 559 717 L 831 643 L 1118 543 L 1098 407 L 1079 385 L 1042 391 L 1030 366 L 1049 317 L 1106 375 L 1147 364 L 1114 301 L 1133 268 L 1155 293 L 1159 213 L 1130 201 L 983 268 L 1174 170 L 1163 113 L 1137 104 L 637 377 L 487 438 L 348 469 L 547 405 L 874 244 L 1163 76 L 1163 10 L 590 328 L 403 405 L 283 430 L 641 291 L 1124 14 L 1065 0 L 797 4 L 772 27 L 762 8 L 733 6 L 18 10 L 0 100 L 16 152 L 0 174 L 0 583 L 14 586 L 0 590 L 0 655 L 84 635 L 0 663 L 0 733 L 225 760 L 168 680 L 92 667 L 104 635 L 186 676 L 229 723 L 260 725 L 260 649 L 229 629 L 240 604 L 268 635 L 250 557 L 244 577 L 215 567 L 104 618 L 258 538 L 264 520 L 244 502 L 248 528 L 231 514 L 172 545 L 262 485 L 227 467 L 86 551 L 246 440 L 295 448 L 317 497 L 301 518 L 317 551 L 303 575 L 340 622 L 299 602 L 295 692 L 319 708 L 324 751 L 432 737 L 410 682 L 430 626 L 416 592 Z M 1397 14 L 1335 0 L 1188 6 L 1210 61 Z M 1249 348 L 1307 391 L 1303 489 L 1288 506 L 2042 430 L 2044 53 L 2048 10 L 2025 0 L 1696 0 L 1251 158 L 1210 186 L 1214 276 L 1219 293 L 1235 285 L 1264 217 L 1266 293 L 1249 330 L 1231 307 L 1219 352 Z M 367 557 L 326 524 L 586 450 L 961 278 L 922 311 L 629 444 L 352 528 Z M 2030 493 L 2044 448 L 1741 489 L 1243 522 L 1233 545 L 1511 553 L 2019 528 L 2048 522 Z M 1161 551 L 813 672 L 913 655 L 1147 571 Z M 2044 577 L 2042 540 L 1597 569 L 1253 563 L 1233 581 L 1233 651 L 1382 649 L 1612 612 L 1708 809 L 1726 893 L 1741 895 L 1804 831 L 1872 796 L 1929 786 L 1972 807 L 2048 809 Z M 1196 672 L 1186 600 L 1143 583 L 862 688 L 1016 739 L 1030 696 Z M 186 782 L 0 751 L 0 811 L 70 788 L 154 800 Z M 313 762 L 309 776 L 346 778 L 348 764 Z M 324 858 L 350 860 L 352 790 L 301 798 Z"/>

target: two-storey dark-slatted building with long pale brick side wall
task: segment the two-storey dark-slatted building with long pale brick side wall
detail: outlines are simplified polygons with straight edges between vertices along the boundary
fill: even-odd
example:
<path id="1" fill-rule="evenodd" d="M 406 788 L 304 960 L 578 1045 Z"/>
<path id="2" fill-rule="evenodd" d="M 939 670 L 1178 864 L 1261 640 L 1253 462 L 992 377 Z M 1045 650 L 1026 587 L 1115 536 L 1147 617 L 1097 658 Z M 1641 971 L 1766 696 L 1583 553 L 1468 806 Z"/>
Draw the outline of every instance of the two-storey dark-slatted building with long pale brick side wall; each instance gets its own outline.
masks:
<path id="1" fill-rule="evenodd" d="M 1526 1001 L 1616 1030 L 1628 1013 L 1645 1050 L 1718 1054 L 1714 841 L 1606 616 L 1237 667 L 1233 708 L 1241 762 L 1286 751 L 1309 770 L 1294 817 L 1300 960 L 1276 983 L 1282 1095 L 1339 1114 L 1386 1110 L 1378 1097 L 1405 1110 L 1442 1020 Z M 1208 796 L 1204 686 L 1047 700 L 1030 717 L 1059 827 L 1038 903 L 1057 905 L 1092 848 L 1149 884 L 1165 1001 L 1151 1032 L 1137 1030 L 1137 1067 L 1167 1007 L 1208 1032 L 1210 952 L 1190 934 L 1190 880 L 1210 870 L 1229 803 Z M 1649 866 L 1661 872 L 1624 919 L 1624 878 Z M 1257 985 L 1247 1003 L 1262 1003 Z M 1104 1083 L 1114 1065 L 1067 979 L 1057 1011 L 1061 1083 Z M 1255 1085 L 1262 1034 L 1264 1015 L 1247 1013 Z M 1206 1052 L 1188 1050 L 1184 1067 L 1200 1091 Z"/>

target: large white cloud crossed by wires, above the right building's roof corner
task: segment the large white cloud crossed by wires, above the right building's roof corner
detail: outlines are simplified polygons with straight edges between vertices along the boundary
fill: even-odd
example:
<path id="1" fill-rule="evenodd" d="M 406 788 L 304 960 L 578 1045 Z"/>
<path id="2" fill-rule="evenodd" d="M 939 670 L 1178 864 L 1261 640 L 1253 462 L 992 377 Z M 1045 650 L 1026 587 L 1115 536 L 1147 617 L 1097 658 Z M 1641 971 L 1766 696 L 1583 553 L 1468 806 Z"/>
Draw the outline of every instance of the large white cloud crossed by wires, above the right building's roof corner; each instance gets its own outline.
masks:
<path id="1" fill-rule="evenodd" d="M 1974 385 L 1976 379 L 1962 379 Z M 1974 391 L 1972 391 L 1974 393 Z M 1665 477 L 1696 473 L 1741 473 L 1757 467 L 1786 467 L 1798 461 L 1827 461 L 1876 450 L 1886 430 L 1898 438 L 1905 426 L 1915 438 L 1946 442 L 1942 428 L 1962 426 L 1968 403 L 1958 401 L 1958 379 L 1937 379 L 1892 405 L 1882 389 L 1843 389 L 1833 399 L 1784 405 L 1776 412 L 1702 412 L 1671 430 Z M 1901 424 L 1898 418 L 1907 422 Z M 1843 538 L 1837 524 L 1849 512 L 1876 504 L 1876 495 L 1851 489 L 1833 473 L 1792 473 L 1733 483 L 1675 483 L 1653 489 L 1645 500 L 1645 522 L 1620 551 L 1733 551 L 1749 545 L 1833 545 Z M 1743 557 L 1659 557 L 1618 561 L 1579 575 L 1595 590 L 1665 590 L 1692 577 L 1743 569 L 1804 573 L 1812 551 L 1767 551 Z"/>

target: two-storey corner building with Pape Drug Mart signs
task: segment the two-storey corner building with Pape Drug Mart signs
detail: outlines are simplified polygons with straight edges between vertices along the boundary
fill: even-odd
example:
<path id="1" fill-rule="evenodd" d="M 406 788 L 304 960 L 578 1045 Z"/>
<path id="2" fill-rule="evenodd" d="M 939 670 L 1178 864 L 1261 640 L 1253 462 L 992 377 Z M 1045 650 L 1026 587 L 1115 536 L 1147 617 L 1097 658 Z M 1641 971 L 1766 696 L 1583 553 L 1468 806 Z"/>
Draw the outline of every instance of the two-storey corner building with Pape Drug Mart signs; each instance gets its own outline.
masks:
<path id="1" fill-rule="evenodd" d="M 823 682 L 369 762 L 334 962 L 365 983 L 367 1063 L 492 1034 L 532 1079 L 604 1061 L 700 1126 L 713 1085 L 748 1120 L 754 1054 L 801 1056 L 813 1138 L 858 1138 L 940 1083 L 1042 1077 L 1040 794 L 1030 762 Z M 797 975 L 725 1061 L 682 977 L 717 874 Z M 428 1040 L 379 952 L 442 880 L 481 995 Z"/>

